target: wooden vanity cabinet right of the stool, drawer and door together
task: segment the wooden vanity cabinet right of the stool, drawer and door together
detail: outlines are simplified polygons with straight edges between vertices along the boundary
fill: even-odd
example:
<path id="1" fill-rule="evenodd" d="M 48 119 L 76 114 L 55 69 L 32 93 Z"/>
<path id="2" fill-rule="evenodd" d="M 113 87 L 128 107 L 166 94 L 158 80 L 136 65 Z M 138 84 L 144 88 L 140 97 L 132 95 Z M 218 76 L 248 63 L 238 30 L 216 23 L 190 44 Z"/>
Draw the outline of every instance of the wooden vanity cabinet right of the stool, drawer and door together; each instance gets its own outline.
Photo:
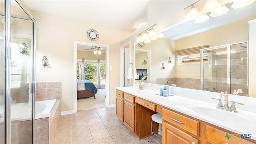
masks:
<path id="1" fill-rule="evenodd" d="M 199 144 L 199 122 L 163 108 L 162 144 Z"/>

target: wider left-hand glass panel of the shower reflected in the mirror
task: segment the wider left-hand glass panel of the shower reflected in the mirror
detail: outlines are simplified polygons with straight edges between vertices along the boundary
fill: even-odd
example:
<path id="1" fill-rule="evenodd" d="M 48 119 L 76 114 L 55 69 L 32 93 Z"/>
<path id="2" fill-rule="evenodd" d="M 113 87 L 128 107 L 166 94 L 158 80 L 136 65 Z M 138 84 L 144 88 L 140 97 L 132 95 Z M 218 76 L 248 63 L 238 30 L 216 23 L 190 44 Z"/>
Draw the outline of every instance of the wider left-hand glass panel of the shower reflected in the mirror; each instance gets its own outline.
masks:
<path id="1" fill-rule="evenodd" d="M 203 90 L 212 92 L 228 91 L 227 47 L 202 50 L 208 54 L 208 62 L 203 65 Z"/>

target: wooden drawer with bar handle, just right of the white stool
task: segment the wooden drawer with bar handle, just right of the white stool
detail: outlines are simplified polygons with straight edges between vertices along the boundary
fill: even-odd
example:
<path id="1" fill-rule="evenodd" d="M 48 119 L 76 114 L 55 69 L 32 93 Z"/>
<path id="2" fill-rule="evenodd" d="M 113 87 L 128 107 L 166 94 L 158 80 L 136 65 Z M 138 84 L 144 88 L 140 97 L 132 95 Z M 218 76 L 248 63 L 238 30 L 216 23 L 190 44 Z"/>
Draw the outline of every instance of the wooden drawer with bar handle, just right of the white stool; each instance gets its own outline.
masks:
<path id="1" fill-rule="evenodd" d="M 198 121 L 183 116 L 181 114 L 177 114 L 165 108 L 163 108 L 162 112 L 162 119 L 164 121 L 169 122 L 170 124 L 173 124 L 174 126 L 181 128 L 182 130 L 190 132 L 194 136 L 199 136 Z"/>

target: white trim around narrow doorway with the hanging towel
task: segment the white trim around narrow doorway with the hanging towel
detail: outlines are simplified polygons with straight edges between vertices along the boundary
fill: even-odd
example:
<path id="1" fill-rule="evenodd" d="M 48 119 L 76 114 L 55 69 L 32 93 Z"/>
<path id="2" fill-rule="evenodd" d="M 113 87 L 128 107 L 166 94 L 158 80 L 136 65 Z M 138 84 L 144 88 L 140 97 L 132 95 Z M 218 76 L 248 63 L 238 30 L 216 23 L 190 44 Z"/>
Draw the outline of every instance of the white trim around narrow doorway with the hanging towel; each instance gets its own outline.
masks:
<path id="1" fill-rule="evenodd" d="M 125 44 L 123 44 L 122 46 L 120 46 L 120 87 L 124 87 L 124 48 L 126 46 L 129 46 L 130 49 L 130 58 L 129 58 L 129 63 L 131 63 L 131 41 L 126 42 Z M 130 80 L 130 84 L 131 84 L 131 80 Z"/>

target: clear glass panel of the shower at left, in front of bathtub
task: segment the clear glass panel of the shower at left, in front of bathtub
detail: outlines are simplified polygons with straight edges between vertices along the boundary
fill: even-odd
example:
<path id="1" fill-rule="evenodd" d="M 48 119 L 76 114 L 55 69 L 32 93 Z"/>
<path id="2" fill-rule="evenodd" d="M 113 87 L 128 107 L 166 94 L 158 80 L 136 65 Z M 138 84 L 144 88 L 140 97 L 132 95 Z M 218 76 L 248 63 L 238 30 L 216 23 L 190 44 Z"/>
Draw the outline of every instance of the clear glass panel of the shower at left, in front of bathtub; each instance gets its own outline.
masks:
<path id="1" fill-rule="evenodd" d="M 10 138 L 33 143 L 33 21 L 12 1 L 10 30 Z"/>

